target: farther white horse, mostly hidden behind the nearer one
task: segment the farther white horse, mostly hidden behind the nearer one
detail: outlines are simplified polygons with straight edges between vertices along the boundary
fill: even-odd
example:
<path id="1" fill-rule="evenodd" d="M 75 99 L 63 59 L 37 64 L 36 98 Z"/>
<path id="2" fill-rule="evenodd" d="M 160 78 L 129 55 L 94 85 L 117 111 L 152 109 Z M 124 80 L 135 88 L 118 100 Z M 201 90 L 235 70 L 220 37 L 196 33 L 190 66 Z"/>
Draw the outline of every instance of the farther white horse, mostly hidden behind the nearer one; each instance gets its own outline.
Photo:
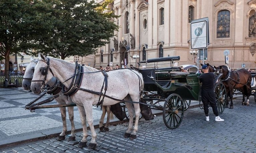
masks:
<path id="1" fill-rule="evenodd" d="M 38 62 L 38 59 L 32 59 L 26 67 L 26 71 L 24 73 L 23 80 L 22 80 L 22 87 L 23 87 L 24 90 L 30 90 L 31 80 L 32 80 L 33 74 L 34 74 L 33 70 L 34 70 L 34 67 L 36 66 L 37 62 Z M 96 69 L 91 69 L 91 67 L 88 67 L 88 70 L 89 71 L 90 70 L 96 71 Z M 57 79 L 56 77 L 52 77 L 50 79 L 50 81 L 47 82 L 47 84 L 51 87 L 54 86 L 55 82 L 56 82 L 56 79 Z M 60 91 L 53 94 L 52 96 L 58 95 L 59 93 L 60 93 Z M 72 99 L 69 96 L 65 96 L 65 95 L 60 95 L 59 97 L 56 97 L 55 101 L 58 104 L 71 104 L 71 103 L 73 103 Z M 59 107 L 59 109 L 60 109 L 63 128 L 62 128 L 62 132 L 59 134 L 59 137 L 57 138 L 57 140 L 61 141 L 61 140 L 65 139 L 65 135 L 66 135 L 66 132 L 67 132 L 66 107 Z M 102 111 L 103 112 L 102 112 L 102 115 L 101 115 L 99 128 L 100 128 L 100 131 L 108 131 L 110 118 L 113 118 L 113 113 L 110 111 L 110 106 L 102 106 Z M 69 119 L 70 119 L 70 122 L 71 122 L 71 135 L 68 138 L 68 141 L 73 141 L 73 140 L 75 140 L 74 107 L 68 107 L 68 113 L 69 113 Z M 107 122 L 106 122 L 106 125 L 104 126 L 103 122 L 104 122 L 104 118 L 105 118 L 106 113 L 108 114 L 107 115 Z M 85 126 L 85 125 L 83 125 L 83 126 Z"/>

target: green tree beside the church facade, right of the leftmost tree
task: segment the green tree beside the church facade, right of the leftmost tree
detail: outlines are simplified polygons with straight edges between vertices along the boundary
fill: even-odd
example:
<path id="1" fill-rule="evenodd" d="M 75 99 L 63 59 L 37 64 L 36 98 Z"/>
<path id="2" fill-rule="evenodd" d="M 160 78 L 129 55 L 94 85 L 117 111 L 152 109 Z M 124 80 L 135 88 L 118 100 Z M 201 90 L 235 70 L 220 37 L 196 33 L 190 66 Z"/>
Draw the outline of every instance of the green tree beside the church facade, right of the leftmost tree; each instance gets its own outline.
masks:
<path id="1" fill-rule="evenodd" d="M 107 0 L 111 3 L 113 0 Z M 107 3 L 102 5 L 88 0 L 53 1 L 53 28 L 48 36 L 34 42 L 30 55 L 38 52 L 65 59 L 70 56 L 95 54 L 98 47 L 109 43 L 118 26 L 110 21 L 115 16 L 106 11 Z"/>

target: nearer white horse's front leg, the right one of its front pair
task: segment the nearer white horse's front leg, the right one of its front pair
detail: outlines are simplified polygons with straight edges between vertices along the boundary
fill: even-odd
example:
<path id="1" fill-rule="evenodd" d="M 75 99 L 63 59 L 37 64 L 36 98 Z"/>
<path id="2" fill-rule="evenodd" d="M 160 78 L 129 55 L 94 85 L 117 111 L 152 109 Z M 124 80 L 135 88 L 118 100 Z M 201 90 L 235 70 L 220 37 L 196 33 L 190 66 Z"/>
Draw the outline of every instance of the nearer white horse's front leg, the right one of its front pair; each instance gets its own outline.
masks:
<path id="1" fill-rule="evenodd" d="M 90 106 L 88 103 L 84 103 L 85 113 L 86 113 L 86 119 L 88 122 L 88 125 L 90 126 L 91 133 L 92 133 L 92 139 L 90 144 L 88 145 L 88 149 L 93 149 L 96 147 L 96 132 L 93 126 L 93 108 L 92 105 Z"/>

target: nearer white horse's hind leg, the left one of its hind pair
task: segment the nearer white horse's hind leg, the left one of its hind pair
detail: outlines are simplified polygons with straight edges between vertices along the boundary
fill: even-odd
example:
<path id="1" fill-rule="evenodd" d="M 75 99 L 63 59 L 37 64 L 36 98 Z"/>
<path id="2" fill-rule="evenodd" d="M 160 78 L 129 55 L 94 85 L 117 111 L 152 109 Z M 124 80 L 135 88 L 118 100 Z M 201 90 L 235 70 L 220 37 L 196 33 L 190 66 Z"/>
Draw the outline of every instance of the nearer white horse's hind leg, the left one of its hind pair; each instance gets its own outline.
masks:
<path id="1" fill-rule="evenodd" d="M 124 100 L 127 100 L 127 99 L 125 98 Z M 124 133 L 124 137 L 128 138 L 128 137 L 130 137 L 131 132 L 132 132 L 134 108 L 133 108 L 132 103 L 130 103 L 130 102 L 125 102 L 125 106 L 128 109 L 128 113 L 129 113 L 129 125 L 128 125 L 127 131 Z"/>

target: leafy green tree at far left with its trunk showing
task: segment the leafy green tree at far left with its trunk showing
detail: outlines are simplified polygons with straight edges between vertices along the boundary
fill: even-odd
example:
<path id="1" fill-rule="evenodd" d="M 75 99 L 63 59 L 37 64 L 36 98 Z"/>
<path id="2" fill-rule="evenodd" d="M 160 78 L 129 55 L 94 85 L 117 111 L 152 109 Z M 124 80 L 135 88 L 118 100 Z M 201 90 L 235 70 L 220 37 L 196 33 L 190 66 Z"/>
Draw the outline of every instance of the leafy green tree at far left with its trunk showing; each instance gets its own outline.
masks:
<path id="1" fill-rule="evenodd" d="M 0 56 L 5 59 L 6 78 L 10 54 L 27 51 L 35 40 L 42 39 L 52 29 L 51 7 L 49 2 L 36 0 L 0 1 Z"/>

